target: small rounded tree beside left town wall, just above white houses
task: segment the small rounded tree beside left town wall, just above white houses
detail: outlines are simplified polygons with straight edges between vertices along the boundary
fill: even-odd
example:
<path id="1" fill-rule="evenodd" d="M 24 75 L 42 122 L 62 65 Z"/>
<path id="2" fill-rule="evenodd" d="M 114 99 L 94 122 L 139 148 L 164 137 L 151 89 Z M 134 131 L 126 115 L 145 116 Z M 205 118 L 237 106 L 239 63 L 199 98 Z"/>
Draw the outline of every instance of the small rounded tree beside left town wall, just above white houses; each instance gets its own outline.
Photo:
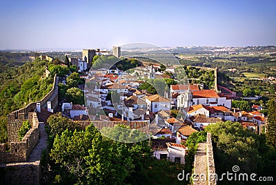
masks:
<path id="1" fill-rule="evenodd" d="M 84 96 L 83 92 L 79 88 L 69 88 L 66 90 L 66 99 L 69 102 L 72 102 L 73 104 L 84 104 Z"/>

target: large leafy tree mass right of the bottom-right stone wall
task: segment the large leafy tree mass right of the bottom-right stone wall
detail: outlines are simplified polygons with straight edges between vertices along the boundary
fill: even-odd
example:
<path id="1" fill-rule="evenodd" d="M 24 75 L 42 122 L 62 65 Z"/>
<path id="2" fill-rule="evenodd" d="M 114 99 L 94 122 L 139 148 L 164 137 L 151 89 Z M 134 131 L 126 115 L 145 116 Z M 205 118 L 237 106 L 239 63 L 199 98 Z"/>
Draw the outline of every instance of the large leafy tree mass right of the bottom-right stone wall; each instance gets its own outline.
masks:
<path id="1" fill-rule="evenodd" d="M 206 126 L 205 130 L 212 134 L 218 175 L 232 169 L 234 165 L 239 166 L 239 171 L 258 171 L 258 174 L 268 173 L 268 168 L 275 168 L 275 150 L 266 145 L 264 136 L 256 135 L 232 121 L 219 121 Z M 275 172 L 271 173 L 275 175 Z"/>

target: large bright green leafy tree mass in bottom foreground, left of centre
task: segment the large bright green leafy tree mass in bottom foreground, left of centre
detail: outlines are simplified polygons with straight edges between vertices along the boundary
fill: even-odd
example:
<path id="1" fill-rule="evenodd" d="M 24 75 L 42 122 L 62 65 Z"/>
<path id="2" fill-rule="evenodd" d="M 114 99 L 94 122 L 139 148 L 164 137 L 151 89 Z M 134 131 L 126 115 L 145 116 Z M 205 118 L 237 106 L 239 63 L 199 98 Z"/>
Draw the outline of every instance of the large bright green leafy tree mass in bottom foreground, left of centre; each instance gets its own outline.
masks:
<path id="1" fill-rule="evenodd" d="M 138 184 L 150 156 L 148 142 L 115 142 L 102 137 L 92 124 L 57 135 L 50 151 L 56 177 L 64 184 Z"/>

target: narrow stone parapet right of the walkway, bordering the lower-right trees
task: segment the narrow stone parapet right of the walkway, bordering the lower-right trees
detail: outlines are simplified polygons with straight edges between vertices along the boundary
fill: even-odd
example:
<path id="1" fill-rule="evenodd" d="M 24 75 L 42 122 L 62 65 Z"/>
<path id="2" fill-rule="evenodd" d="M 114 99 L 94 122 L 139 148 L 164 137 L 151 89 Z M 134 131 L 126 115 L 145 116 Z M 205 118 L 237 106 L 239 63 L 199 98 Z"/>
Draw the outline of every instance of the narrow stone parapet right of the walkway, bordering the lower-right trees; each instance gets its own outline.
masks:
<path id="1" fill-rule="evenodd" d="M 207 133 L 206 139 L 206 155 L 207 155 L 207 171 L 208 171 L 208 184 L 217 184 L 217 179 L 213 178 L 215 175 L 215 160 L 213 153 L 213 145 L 211 134 Z"/>

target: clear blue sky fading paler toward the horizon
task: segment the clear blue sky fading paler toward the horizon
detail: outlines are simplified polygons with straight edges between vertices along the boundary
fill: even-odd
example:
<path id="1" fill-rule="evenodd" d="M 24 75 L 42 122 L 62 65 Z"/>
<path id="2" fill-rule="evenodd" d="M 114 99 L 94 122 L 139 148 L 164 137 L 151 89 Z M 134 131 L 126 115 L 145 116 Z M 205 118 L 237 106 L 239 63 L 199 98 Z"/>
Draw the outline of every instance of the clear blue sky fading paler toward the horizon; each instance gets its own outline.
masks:
<path id="1" fill-rule="evenodd" d="M 1 0 L 0 49 L 276 45 L 276 1 Z"/>

